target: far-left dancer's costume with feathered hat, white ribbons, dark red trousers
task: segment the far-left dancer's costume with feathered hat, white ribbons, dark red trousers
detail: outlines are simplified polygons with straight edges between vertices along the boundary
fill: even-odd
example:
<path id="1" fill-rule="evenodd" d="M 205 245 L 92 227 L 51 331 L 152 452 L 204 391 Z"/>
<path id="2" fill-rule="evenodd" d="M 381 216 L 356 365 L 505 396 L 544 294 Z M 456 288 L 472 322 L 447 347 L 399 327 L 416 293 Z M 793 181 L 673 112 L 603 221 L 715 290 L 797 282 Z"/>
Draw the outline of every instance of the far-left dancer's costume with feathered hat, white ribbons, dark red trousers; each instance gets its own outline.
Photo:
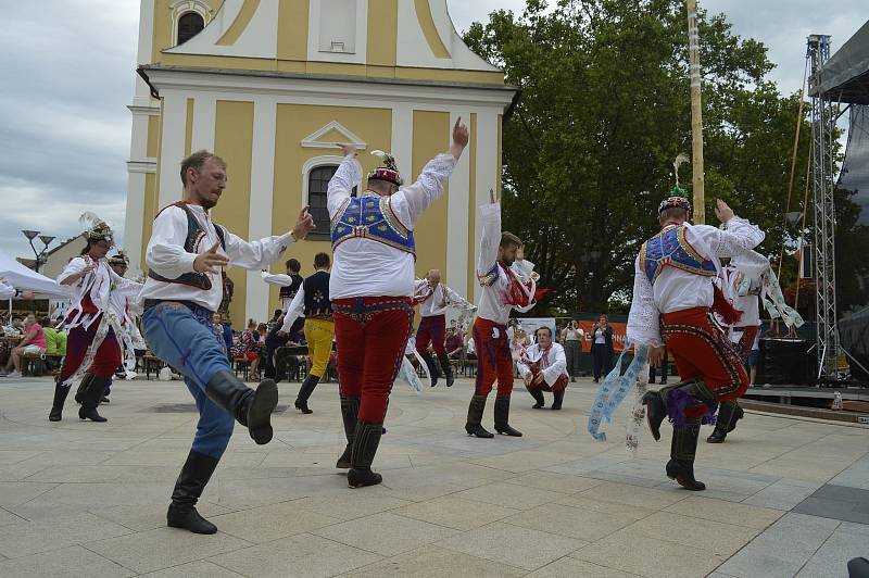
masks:
<path id="1" fill-rule="evenodd" d="M 88 243 L 112 242 L 112 229 L 93 213 L 85 213 L 80 222 L 87 227 L 84 235 Z M 64 322 L 67 334 L 66 355 L 54 386 L 54 401 L 48 416 L 51 422 L 61 420 L 70 387 L 79 378 L 81 407 L 78 410 L 78 417 L 93 422 L 106 420 L 97 412 L 97 406 L 115 369 L 121 365 L 119 343 L 124 336 L 123 319 L 112 306 L 112 297 L 124 300 L 136 298 L 142 287 L 141 284 L 118 276 L 104 259 L 95 262 L 88 254 L 70 261 L 58 276 L 58 282 L 63 284 L 91 265 L 95 268 L 71 286 L 73 305 Z"/>

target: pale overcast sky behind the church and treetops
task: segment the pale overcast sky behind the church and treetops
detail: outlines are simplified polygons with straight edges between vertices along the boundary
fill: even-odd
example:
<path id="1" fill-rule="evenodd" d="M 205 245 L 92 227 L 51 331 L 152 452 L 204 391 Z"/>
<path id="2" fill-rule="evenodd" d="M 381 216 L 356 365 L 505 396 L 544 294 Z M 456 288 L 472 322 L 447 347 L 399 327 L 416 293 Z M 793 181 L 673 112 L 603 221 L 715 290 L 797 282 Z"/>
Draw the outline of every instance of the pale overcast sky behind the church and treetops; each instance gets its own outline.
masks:
<path id="1" fill-rule="evenodd" d="M 448 2 L 458 30 L 492 10 L 525 5 Z M 869 17 L 866 0 L 700 4 L 769 47 L 782 92 L 799 88 L 808 34 L 832 35 L 835 50 Z M 86 210 L 123 238 L 138 17 L 137 0 L 0 0 L 0 250 L 32 256 L 21 229 L 66 239 L 80 233 Z"/>

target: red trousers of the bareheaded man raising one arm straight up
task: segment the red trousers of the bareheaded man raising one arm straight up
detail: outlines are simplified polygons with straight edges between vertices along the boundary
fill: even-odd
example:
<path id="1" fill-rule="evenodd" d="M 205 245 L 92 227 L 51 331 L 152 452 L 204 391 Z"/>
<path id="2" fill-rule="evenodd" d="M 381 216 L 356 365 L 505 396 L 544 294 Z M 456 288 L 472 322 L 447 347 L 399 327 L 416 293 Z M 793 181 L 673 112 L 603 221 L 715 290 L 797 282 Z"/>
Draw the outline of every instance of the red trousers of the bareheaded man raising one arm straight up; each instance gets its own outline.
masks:
<path id="1" fill-rule="evenodd" d="M 498 394 L 513 393 L 513 355 L 507 328 L 489 319 L 474 322 L 474 344 L 477 349 L 475 395 L 488 395 L 498 379 Z"/>

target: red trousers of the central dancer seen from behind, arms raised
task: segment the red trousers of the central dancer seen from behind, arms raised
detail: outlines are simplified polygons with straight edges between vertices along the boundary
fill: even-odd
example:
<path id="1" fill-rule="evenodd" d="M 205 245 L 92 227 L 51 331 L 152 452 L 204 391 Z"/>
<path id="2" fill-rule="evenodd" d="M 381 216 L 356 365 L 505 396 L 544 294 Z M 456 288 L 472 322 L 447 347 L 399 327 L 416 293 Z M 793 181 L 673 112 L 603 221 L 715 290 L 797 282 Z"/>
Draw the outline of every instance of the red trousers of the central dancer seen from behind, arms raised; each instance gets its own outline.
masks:
<path id="1" fill-rule="evenodd" d="M 341 395 L 360 398 L 360 422 L 382 424 L 413 329 L 411 299 L 336 299 L 332 310 Z"/>

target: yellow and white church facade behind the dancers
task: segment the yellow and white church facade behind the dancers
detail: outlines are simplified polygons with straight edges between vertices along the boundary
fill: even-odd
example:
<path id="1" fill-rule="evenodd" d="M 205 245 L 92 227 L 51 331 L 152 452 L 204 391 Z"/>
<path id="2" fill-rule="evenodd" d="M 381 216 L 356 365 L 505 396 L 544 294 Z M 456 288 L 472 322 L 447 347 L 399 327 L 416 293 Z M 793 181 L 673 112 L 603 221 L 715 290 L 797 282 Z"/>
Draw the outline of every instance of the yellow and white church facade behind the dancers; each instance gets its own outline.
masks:
<path id="1" fill-rule="evenodd" d="M 213 217 L 240 237 L 286 233 L 312 206 L 316 233 L 287 254 L 308 275 L 314 255 L 330 252 L 336 142 L 355 143 L 365 171 L 377 163 L 369 151 L 392 152 L 411 181 L 449 148 L 461 116 L 471 140 L 417 224 L 416 273 L 440 268 L 476 298 L 477 206 L 500 187 L 501 123 L 516 90 L 464 45 L 445 0 L 142 0 L 138 62 L 124 242 L 134 271 L 147 267 L 154 216 L 181 198 L 191 151 L 227 161 Z M 259 272 L 228 275 L 234 325 L 270 317 L 278 289 Z"/>

